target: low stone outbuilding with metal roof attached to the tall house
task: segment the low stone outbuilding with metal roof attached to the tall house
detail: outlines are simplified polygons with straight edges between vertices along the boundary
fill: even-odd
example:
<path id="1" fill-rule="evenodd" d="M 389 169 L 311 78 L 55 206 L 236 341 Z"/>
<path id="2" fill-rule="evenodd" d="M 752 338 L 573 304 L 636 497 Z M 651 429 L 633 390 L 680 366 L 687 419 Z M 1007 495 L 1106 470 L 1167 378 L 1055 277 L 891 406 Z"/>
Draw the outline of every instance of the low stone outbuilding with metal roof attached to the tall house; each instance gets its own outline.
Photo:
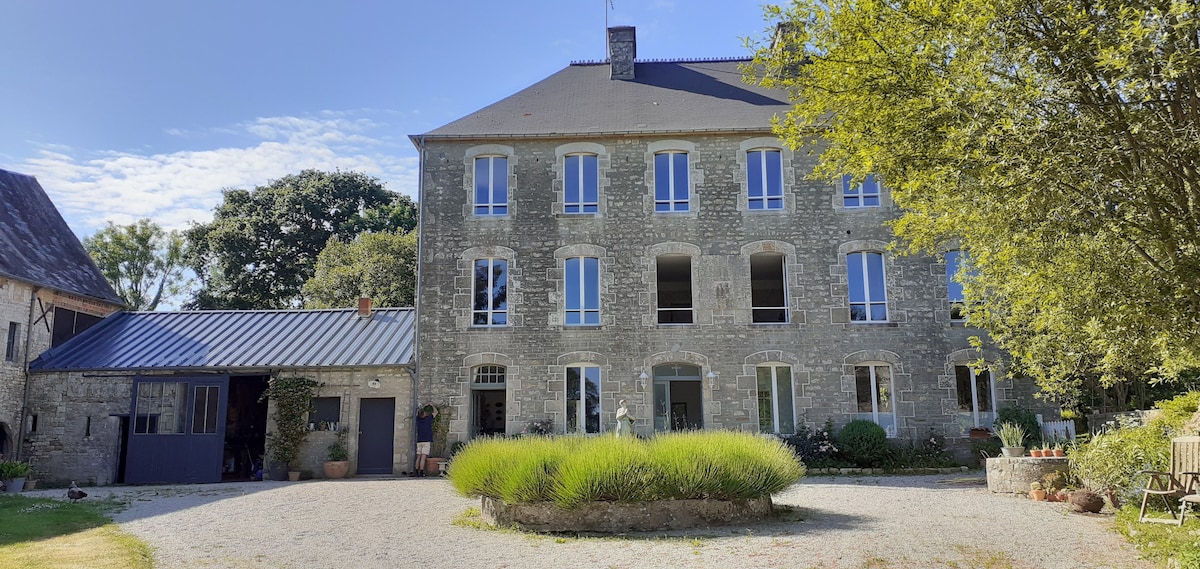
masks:
<path id="1" fill-rule="evenodd" d="M 120 312 L 30 364 L 28 455 L 38 478 L 212 483 L 253 475 L 276 377 L 322 384 L 300 469 L 347 436 L 350 472 L 413 455 L 413 309 Z"/>

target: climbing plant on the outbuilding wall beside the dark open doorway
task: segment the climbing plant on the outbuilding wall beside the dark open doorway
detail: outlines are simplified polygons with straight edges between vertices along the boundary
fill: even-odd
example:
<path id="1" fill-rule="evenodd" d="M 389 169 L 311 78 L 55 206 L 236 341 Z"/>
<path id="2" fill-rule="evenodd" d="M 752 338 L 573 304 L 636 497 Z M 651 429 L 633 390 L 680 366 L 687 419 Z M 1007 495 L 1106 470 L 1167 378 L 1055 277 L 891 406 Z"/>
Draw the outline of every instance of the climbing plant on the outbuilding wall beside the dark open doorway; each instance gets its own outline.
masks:
<path id="1" fill-rule="evenodd" d="M 263 399 L 275 405 L 271 420 L 275 430 L 266 433 L 266 454 L 271 478 L 280 480 L 278 468 L 287 468 L 289 480 L 300 479 L 300 451 L 308 441 L 308 409 L 320 383 L 307 377 L 276 377 Z"/>

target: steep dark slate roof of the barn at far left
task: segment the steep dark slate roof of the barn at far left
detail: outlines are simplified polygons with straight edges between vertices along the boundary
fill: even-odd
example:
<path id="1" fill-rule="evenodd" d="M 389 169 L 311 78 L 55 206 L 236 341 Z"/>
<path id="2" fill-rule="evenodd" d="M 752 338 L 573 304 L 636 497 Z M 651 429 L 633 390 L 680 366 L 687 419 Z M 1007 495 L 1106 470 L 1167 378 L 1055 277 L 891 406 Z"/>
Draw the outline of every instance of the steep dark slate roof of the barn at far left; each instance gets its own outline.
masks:
<path id="1" fill-rule="evenodd" d="M 0 276 L 121 305 L 31 175 L 0 169 Z"/>

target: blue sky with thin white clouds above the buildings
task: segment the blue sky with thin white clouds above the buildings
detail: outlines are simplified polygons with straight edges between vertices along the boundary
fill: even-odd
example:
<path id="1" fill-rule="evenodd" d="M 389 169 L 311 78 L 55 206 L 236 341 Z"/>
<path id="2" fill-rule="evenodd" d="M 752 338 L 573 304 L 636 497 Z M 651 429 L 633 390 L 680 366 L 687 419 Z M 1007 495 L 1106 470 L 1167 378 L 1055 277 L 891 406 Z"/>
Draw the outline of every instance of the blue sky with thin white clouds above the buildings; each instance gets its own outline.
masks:
<path id="1" fill-rule="evenodd" d="M 415 197 L 430 131 L 572 60 L 748 55 L 756 0 L 0 0 L 0 168 L 80 236 L 208 221 L 227 187 L 354 169 Z"/>

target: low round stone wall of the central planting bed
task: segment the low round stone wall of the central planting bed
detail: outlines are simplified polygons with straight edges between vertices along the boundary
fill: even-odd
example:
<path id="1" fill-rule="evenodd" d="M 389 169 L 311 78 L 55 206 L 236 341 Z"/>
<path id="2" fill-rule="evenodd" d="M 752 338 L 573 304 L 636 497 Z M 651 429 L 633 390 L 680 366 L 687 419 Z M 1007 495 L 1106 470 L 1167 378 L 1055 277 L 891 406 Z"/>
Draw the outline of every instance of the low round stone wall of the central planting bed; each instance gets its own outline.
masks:
<path id="1" fill-rule="evenodd" d="M 590 502 L 571 510 L 548 502 L 505 504 L 482 498 L 482 517 L 487 523 L 534 532 L 623 533 L 725 526 L 757 521 L 770 511 L 770 496 L 751 501 Z"/>

